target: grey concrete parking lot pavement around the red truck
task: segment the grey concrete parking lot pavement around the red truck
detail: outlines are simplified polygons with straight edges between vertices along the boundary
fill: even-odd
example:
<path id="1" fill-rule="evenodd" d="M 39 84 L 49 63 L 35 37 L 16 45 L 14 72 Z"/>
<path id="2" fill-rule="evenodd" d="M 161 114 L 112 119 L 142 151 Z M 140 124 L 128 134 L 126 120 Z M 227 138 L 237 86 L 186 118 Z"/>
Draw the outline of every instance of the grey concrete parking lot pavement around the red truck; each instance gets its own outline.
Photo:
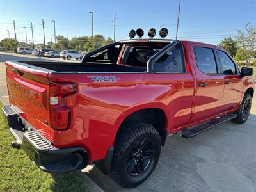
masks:
<path id="1" fill-rule="evenodd" d="M 6 60 L 65 61 L 0 53 L 0 101 L 4 104 L 8 103 Z M 256 191 L 255 98 L 245 124 L 226 122 L 188 140 L 179 133 L 170 136 L 156 170 L 137 188 L 121 188 L 93 166 L 83 172 L 104 191 Z"/>

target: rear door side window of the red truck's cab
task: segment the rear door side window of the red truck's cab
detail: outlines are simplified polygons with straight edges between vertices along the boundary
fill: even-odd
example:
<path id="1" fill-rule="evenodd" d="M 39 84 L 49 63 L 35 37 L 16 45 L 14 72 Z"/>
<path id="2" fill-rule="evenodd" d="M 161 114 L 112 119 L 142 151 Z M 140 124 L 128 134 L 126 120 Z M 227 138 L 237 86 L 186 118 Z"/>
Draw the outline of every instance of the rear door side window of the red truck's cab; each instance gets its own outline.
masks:
<path id="1" fill-rule="evenodd" d="M 199 70 L 206 74 L 216 74 L 217 65 L 213 49 L 207 47 L 195 47 L 196 62 Z"/>

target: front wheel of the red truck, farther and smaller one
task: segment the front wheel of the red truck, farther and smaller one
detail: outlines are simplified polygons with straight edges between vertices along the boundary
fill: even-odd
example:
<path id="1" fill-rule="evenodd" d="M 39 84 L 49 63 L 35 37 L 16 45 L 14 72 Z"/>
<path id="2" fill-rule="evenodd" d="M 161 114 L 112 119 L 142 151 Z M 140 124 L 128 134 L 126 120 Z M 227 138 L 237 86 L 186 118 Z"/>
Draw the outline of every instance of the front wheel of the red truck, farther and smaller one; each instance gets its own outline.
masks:
<path id="1" fill-rule="evenodd" d="M 245 93 L 244 94 L 244 99 L 237 110 L 237 116 L 236 118 L 232 119 L 232 122 L 235 122 L 237 124 L 243 124 L 246 122 L 250 115 L 251 111 L 251 106 L 252 106 L 252 97 L 250 94 Z"/>

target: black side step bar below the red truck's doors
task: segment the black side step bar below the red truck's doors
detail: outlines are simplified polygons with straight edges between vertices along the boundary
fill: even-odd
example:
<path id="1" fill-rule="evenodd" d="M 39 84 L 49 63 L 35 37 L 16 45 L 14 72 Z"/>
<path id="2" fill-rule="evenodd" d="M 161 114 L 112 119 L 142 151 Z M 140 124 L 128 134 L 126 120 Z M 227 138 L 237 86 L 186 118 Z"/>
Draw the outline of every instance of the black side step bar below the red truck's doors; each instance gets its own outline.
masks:
<path id="1" fill-rule="evenodd" d="M 220 125 L 224 122 L 227 122 L 228 120 L 231 120 L 232 118 L 236 117 L 236 113 L 228 113 L 225 116 L 221 116 L 220 118 L 214 118 L 214 120 L 211 120 L 210 122 L 207 122 L 205 124 L 198 125 L 197 127 L 193 127 L 191 129 L 188 129 L 180 135 L 182 138 L 193 138 L 194 136 L 200 134 L 201 132 L 207 131 L 208 129 L 211 129 L 212 127 L 215 127 L 216 125 Z"/>

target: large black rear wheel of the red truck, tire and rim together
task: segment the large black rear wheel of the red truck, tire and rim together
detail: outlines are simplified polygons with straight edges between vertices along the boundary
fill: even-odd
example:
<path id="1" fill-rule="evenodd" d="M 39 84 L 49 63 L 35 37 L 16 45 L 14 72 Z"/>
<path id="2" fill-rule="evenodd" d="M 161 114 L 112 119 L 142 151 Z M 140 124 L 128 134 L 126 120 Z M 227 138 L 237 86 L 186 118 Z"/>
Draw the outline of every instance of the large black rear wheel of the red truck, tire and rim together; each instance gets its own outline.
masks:
<path id="1" fill-rule="evenodd" d="M 110 176 L 125 188 L 144 182 L 153 172 L 161 153 L 161 138 L 150 124 L 125 124 L 115 141 Z"/>

